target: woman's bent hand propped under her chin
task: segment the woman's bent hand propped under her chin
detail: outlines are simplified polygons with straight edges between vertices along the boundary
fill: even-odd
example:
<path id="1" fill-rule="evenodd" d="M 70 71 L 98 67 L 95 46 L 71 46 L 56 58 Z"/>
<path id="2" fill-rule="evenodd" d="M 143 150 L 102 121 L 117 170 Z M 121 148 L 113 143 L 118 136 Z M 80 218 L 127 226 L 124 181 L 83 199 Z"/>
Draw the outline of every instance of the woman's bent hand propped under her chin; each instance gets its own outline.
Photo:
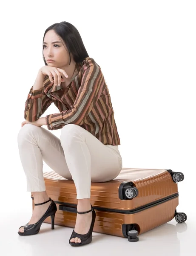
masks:
<path id="1" fill-rule="evenodd" d="M 60 85 L 61 82 L 65 82 L 65 79 L 68 78 L 68 74 L 65 72 L 65 70 L 58 67 L 43 66 L 39 71 L 44 76 L 48 75 L 51 83 L 54 81 L 55 85 Z"/>

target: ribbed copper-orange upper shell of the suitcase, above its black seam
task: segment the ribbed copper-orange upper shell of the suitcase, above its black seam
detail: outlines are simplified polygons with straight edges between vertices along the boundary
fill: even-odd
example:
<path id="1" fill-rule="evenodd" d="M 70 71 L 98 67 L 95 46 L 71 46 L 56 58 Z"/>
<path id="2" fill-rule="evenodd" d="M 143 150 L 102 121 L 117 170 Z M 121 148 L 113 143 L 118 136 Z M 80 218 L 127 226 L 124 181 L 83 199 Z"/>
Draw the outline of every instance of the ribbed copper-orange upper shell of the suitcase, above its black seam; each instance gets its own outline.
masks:
<path id="1" fill-rule="evenodd" d="M 44 173 L 46 191 L 54 201 L 77 204 L 73 180 L 66 180 L 55 172 Z M 131 181 L 138 189 L 132 200 L 119 200 L 119 186 Z M 95 207 L 131 210 L 178 192 L 177 184 L 165 169 L 127 169 L 111 181 L 91 183 L 91 204 Z"/>

